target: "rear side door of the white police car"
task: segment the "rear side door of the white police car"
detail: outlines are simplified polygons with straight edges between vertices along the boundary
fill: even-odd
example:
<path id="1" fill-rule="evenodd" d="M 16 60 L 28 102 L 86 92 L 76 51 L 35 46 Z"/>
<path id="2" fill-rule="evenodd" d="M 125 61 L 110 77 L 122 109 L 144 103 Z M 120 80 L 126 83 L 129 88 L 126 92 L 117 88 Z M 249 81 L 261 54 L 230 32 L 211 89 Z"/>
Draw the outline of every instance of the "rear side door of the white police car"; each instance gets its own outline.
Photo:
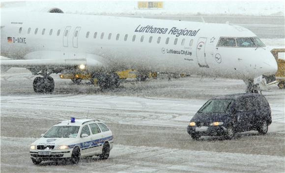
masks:
<path id="1" fill-rule="evenodd" d="M 91 148 L 91 152 L 93 154 L 101 154 L 102 145 L 100 145 L 100 141 L 102 139 L 102 133 L 99 126 L 96 123 L 89 124 L 91 129 L 91 141 L 93 146 Z"/>

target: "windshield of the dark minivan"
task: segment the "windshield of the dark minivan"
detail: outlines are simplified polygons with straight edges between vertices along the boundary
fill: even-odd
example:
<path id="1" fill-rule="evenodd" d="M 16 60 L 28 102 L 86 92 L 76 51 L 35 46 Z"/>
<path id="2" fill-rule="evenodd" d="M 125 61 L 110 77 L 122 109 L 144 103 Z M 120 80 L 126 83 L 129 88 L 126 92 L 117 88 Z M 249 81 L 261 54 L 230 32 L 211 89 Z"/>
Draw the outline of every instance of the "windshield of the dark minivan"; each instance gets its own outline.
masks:
<path id="1" fill-rule="evenodd" d="M 226 113 L 233 100 L 213 99 L 209 100 L 198 111 L 199 113 Z"/>

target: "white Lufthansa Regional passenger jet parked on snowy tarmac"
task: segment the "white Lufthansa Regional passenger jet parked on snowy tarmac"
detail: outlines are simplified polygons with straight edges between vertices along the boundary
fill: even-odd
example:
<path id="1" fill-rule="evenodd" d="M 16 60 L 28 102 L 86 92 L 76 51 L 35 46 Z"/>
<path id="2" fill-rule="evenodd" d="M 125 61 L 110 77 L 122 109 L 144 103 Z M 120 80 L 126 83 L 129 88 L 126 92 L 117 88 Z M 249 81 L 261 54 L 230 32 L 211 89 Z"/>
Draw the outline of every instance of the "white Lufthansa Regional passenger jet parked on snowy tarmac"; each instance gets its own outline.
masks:
<path id="1" fill-rule="evenodd" d="M 47 12 L 2 12 L 1 71 L 27 68 L 36 93 L 51 93 L 53 73 L 88 72 L 99 87 L 119 86 L 115 71 L 137 69 L 241 79 L 266 90 L 277 63 L 249 29 L 231 25 Z M 40 77 L 40 76 L 42 77 Z"/>

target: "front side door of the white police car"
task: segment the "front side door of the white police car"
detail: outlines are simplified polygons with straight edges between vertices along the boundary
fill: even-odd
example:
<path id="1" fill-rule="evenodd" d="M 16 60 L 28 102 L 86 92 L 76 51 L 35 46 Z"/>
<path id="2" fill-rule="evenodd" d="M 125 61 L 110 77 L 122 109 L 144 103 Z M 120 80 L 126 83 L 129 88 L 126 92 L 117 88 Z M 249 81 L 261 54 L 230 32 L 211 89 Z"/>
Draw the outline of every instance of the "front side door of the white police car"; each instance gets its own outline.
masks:
<path id="1" fill-rule="evenodd" d="M 83 134 L 87 134 L 87 137 L 82 137 Z M 92 142 L 88 125 L 84 125 L 80 133 L 81 139 L 81 155 L 88 155 L 91 152 Z"/>

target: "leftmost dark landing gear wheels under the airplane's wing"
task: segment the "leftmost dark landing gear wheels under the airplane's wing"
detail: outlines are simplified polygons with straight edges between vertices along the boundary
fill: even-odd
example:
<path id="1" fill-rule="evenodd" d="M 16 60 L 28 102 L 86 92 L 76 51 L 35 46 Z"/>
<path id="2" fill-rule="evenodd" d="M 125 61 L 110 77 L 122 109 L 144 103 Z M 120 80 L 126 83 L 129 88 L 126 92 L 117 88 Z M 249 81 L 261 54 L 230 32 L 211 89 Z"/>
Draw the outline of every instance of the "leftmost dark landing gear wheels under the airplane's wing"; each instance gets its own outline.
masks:
<path id="1" fill-rule="evenodd" d="M 55 81 L 50 76 L 36 77 L 33 80 L 33 90 L 36 93 L 51 93 L 55 89 Z"/>

